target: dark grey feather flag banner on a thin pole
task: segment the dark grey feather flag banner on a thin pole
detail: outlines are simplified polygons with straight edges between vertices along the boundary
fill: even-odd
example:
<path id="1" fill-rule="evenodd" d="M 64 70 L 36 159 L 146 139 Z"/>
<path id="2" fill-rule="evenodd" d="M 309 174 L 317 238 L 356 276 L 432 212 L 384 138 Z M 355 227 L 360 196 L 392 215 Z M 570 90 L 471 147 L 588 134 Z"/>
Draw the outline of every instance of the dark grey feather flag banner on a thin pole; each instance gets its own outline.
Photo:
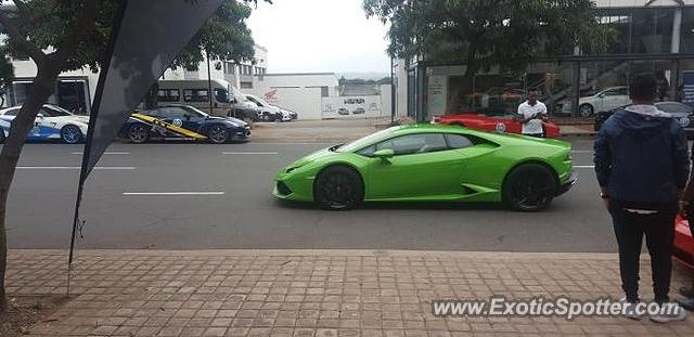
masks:
<path id="1" fill-rule="evenodd" d="M 79 178 L 68 270 L 87 177 L 130 113 L 222 0 L 121 0 L 99 76 Z M 69 277 L 69 275 L 68 275 Z M 69 280 L 69 278 L 68 278 Z"/>

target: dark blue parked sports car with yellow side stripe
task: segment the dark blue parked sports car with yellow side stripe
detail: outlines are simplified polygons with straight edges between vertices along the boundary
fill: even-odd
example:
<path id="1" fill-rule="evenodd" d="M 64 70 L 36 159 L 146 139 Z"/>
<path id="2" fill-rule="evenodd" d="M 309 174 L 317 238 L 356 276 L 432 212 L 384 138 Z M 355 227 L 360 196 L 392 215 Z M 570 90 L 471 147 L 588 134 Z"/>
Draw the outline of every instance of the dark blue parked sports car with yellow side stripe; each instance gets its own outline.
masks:
<path id="1" fill-rule="evenodd" d="M 193 139 L 221 144 L 246 141 L 250 127 L 241 119 L 213 117 L 190 105 L 170 104 L 131 114 L 119 135 L 132 143 Z"/>

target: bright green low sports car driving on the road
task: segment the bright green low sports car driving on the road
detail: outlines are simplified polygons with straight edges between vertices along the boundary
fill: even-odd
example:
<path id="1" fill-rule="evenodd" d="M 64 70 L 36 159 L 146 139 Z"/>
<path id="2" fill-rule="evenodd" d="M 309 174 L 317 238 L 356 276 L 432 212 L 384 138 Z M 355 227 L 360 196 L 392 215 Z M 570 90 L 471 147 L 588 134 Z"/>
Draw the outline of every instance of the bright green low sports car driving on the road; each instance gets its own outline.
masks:
<path id="1" fill-rule="evenodd" d="M 326 209 L 361 202 L 470 202 L 536 211 L 575 183 L 567 142 L 413 125 L 298 159 L 278 173 L 272 194 Z"/>

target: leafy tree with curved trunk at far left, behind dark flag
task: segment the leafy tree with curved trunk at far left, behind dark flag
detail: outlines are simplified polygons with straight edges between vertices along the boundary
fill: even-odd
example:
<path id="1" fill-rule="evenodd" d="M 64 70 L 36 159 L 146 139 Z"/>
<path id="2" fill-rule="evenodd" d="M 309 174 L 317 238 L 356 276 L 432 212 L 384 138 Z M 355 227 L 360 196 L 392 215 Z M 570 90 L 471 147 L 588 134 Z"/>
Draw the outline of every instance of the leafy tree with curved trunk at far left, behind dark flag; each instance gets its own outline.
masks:
<path id="1" fill-rule="evenodd" d="M 232 60 L 252 57 L 253 40 L 244 21 L 250 13 L 246 3 L 256 1 L 227 0 L 175 65 L 192 65 L 202 60 L 205 51 Z M 9 38 L 8 50 L 15 56 L 28 56 L 37 66 L 31 90 L 0 153 L 0 313 L 3 313 L 7 311 L 7 202 L 24 142 L 40 107 L 53 93 L 57 76 L 85 66 L 97 70 L 108 57 L 105 51 L 116 0 L 0 0 L 0 4 L 3 5 L 0 33 Z M 233 25 L 224 26 L 230 22 Z"/>

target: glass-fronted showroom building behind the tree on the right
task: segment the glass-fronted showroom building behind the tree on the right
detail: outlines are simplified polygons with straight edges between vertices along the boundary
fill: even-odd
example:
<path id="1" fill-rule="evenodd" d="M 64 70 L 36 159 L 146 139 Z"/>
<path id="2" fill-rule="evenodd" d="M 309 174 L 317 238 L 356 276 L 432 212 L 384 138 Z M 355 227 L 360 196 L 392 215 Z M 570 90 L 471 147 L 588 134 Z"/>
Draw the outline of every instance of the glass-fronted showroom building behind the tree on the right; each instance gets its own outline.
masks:
<path id="1" fill-rule="evenodd" d="M 464 64 L 427 60 L 395 63 L 398 115 L 420 121 L 464 112 L 514 113 L 528 88 L 538 88 L 551 114 L 591 117 L 629 102 L 629 78 L 653 73 L 659 99 L 686 101 L 694 72 L 694 0 L 599 0 L 599 20 L 617 43 L 602 54 L 548 56 L 522 74 L 491 68 L 465 78 Z M 472 86 L 470 85 L 472 82 Z M 694 104 L 694 102 L 692 102 Z"/>

